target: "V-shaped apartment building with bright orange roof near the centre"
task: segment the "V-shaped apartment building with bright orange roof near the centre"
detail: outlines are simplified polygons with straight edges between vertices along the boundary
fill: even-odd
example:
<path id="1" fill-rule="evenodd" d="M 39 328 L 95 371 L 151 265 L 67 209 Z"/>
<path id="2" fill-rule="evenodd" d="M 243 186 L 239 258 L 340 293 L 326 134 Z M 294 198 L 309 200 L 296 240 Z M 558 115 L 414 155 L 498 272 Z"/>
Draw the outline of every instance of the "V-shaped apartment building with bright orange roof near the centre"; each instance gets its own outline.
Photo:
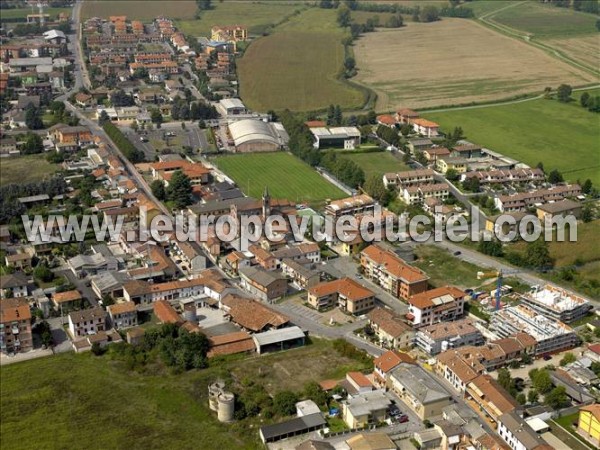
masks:
<path id="1" fill-rule="evenodd" d="M 319 311 L 338 306 L 350 314 L 363 314 L 375 306 L 375 294 L 351 278 L 328 281 L 308 290 L 308 303 Z"/>

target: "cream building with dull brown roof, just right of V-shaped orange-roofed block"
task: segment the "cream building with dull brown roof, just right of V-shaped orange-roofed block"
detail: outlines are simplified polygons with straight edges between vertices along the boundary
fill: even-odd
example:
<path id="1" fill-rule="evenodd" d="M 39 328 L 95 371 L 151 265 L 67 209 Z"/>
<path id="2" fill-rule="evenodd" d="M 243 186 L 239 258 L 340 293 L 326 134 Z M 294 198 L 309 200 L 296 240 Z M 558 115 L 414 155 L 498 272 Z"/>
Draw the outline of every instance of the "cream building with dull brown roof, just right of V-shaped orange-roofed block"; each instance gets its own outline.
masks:
<path id="1" fill-rule="evenodd" d="M 373 308 L 367 315 L 369 326 L 386 348 L 412 347 L 415 332 L 394 311 L 381 307 Z"/>

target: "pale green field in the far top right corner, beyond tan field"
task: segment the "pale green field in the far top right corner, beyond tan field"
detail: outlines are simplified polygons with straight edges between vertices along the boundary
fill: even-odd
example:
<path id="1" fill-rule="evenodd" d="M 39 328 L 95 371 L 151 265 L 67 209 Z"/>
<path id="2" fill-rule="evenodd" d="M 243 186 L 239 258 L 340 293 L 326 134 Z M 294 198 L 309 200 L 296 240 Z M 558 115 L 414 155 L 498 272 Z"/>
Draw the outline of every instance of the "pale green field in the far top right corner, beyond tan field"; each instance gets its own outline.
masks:
<path id="1" fill-rule="evenodd" d="M 594 15 L 570 8 L 546 6 L 537 1 L 522 2 L 515 7 L 492 14 L 488 19 L 536 37 L 561 37 L 597 32 L 597 17 Z"/>

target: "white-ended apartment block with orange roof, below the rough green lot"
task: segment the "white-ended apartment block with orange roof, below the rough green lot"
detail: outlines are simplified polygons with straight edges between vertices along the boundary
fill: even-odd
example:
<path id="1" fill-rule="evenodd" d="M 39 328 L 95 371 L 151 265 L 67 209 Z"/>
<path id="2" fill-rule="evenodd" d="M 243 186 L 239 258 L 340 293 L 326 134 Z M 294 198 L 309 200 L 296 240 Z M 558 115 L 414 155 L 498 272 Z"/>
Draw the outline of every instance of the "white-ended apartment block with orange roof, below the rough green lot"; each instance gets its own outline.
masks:
<path id="1" fill-rule="evenodd" d="M 464 314 L 466 294 L 454 286 L 443 286 L 408 298 L 407 319 L 416 328 L 450 322 Z"/>

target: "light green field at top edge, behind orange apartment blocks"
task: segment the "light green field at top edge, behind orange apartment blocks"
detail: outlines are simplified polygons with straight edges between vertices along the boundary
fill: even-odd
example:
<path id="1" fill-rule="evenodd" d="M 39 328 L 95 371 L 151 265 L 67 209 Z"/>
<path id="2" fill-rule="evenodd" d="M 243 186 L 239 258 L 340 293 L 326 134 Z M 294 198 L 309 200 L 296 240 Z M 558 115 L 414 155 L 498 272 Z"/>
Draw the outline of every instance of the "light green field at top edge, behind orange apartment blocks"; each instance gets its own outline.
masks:
<path id="1" fill-rule="evenodd" d="M 192 36 L 210 36 L 214 25 L 243 24 L 251 35 L 262 35 L 268 28 L 305 8 L 298 2 L 213 2 L 214 7 L 202 11 L 199 19 L 179 20 L 177 27 Z"/>

